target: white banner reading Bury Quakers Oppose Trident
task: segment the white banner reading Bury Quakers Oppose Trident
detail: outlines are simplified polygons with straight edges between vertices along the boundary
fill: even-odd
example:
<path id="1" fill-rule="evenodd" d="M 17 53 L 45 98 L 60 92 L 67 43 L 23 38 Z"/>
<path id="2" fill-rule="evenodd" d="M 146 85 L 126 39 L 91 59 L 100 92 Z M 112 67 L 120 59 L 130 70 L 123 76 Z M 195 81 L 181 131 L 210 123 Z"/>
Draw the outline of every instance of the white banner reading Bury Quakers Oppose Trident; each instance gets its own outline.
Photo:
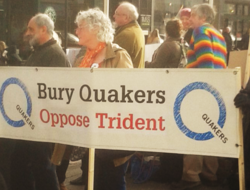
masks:
<path id="1" fill-rule="evenodd" d="M 0 69 L 0 136 L 238 157 L 236 69 Z"/>

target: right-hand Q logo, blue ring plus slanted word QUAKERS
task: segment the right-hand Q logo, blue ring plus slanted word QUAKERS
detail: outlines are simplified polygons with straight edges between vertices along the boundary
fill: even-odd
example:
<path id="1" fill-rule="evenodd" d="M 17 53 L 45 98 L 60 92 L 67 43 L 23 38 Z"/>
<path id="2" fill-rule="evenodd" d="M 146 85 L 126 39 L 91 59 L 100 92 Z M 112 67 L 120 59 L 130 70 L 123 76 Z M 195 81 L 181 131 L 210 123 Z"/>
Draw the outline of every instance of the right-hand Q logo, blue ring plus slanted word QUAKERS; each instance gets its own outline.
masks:
<path id="1" fill-rule="evenodd" d="M 195 131 L 192 131 L 188 128 L 188 126 L 185 125 L 185 123 L 182 120 L 182 116 L 180 113 L 181 104 L 186 97 L 186 95 L 194 90 L 205 90 L 208 93 L 212 94 L 215 98 L 218 107 L 219 107 L 219 118 L 218 121 L 213 122 L 208 114 L 201 113 L 201 119 L 204 120 L 204 125 L 208 126 L 210 130 L 204 133 L 198 133 Z M 195 104 L 195 102 L 194 102 Z M 217 136 L 221 139 L 223 143 L 226 143 L 228 138 L 226 135 L 222 132 L 222 128 L 224 127 L 225 120 L 226 120 L 226 107 L 224 104 L 224 101 L 220 95 L 220 93 L 211 85 L 205 82 L 194 82 L 189 85 L 187 85 L 185 88 L 183 88 L 178 96 L 176 97 L 175 103 L 174 103 L 174 118 L 177 126 L 179 129 L 189 138 L 197 140 L 197 141 L 206 141 L 212 139 L 214 136 Z M 191 127 L 191 126 L 189 126 Z M 212 132 L 214 132 L 214 134 Z"/>

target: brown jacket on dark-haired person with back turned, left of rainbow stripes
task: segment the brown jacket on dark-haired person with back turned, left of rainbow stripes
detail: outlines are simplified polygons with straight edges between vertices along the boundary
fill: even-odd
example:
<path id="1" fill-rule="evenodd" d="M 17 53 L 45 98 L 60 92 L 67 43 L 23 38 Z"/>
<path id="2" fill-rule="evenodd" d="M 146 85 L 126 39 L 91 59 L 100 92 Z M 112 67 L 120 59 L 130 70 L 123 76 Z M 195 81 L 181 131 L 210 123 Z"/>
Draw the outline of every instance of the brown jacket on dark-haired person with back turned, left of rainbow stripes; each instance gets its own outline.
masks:
<path id="1" fill-rule="evenodd" d="M 146 62 L 146 68 L 177 68 L 181 59 L 179 38 L 167 38 L 155 50 L 151 62 Z"/>

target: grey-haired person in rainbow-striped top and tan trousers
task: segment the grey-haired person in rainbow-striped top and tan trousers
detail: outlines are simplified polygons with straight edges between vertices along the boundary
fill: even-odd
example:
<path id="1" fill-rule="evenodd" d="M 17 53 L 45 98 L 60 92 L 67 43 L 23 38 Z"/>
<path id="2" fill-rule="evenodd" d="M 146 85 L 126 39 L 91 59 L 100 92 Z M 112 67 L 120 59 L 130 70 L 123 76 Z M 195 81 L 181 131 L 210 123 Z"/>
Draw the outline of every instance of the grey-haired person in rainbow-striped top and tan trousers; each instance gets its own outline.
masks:
<path id="1" fill-rule="evenodd" d="M 226 43 L 219 31 L 211 23 L 215 11 L 209 4 L 195 5 L 191 11 L 191 27 L 194 29 L 186 68 L 226 68 Z M 172 185 L 172 189 L 185 190 L 201 184 L 200 174 L 207 185 L 216 185 L 218 170 L 217 157 L 184 155 L 182 180 Z"/>

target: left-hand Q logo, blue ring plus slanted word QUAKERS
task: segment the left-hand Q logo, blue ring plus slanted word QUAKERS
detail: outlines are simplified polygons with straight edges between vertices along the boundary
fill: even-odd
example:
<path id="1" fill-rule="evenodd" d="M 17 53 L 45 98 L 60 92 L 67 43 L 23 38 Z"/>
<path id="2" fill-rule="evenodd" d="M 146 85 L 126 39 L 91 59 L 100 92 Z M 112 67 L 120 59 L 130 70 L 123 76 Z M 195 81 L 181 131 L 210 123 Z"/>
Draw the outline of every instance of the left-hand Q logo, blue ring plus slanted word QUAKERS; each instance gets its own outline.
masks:
<path id="1" fill-rule="evenodd" d="M 20 105 L 16 105 L 16 110 L 17 112 L 20 114 L 20 116 L 22 117 L 21 120 L 18 120 L 18 121 L 15 121 L 13 119 L 11 119 L 8 114 L 6 113 L 6 109 L 5 109 L 5 106 L 6 105 L 9 105 L 7 104 L 6 102 L 3 101 L 4 99 L 4 94 L 5 94 L 5 91 L 6 89 L 10 86 L 10 85 L 17 85 L 19 86 L 24 94 L 25 94 L 25 98 L 26 98 L 26 103 L 27 103 L 27 110 L 25 112 L 25 110 L 23 110 L 21 108 Z M 14 93 L 14 92 L 13 92 Z M 22 81 L 20 81 L 19 79 L 17 78 L 9 78 L 7 79 L 2 87 L 1 87 L 1 90 L 0 90 L 0 110 L 1 110 L 1 113 L 5 119 L 5 121 L 13 126 L 13 127 L 23 127 L 25 125 L 25 123 L 27 123 L 32 129 L 34 129 L 34 125 L 33 123 L 31 122 L 30 120 L 30 116 L 31 116 L 31 112 L 32 112 L 32 102 L 31 102 L 31 98 L 30 98 L 30 95 L 29 95 L 29 92 L 26 88 L 26 86 L 24 85 L 24 83 Z"/>

